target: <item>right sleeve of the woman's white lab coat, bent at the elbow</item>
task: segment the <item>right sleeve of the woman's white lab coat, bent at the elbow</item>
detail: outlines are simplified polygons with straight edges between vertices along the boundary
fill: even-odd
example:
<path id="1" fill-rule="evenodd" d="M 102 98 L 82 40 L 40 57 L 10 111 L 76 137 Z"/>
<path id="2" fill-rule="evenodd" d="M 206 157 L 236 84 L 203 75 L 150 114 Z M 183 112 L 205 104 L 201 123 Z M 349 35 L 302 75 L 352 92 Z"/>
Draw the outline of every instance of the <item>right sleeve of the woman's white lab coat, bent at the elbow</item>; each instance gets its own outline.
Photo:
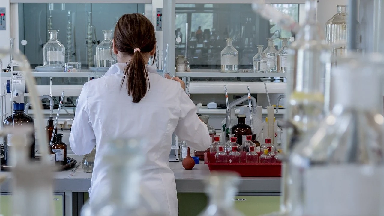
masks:
<path id="1" fill-rule="evenodd" d="M 180 117 L 175 134 L 179 140 L 187 141 L 187 145 L 197 151 L 205 151 L 211 144 L 211 138 L 205 123 L 196 114 L 197 107 L 180 88 Z"/>

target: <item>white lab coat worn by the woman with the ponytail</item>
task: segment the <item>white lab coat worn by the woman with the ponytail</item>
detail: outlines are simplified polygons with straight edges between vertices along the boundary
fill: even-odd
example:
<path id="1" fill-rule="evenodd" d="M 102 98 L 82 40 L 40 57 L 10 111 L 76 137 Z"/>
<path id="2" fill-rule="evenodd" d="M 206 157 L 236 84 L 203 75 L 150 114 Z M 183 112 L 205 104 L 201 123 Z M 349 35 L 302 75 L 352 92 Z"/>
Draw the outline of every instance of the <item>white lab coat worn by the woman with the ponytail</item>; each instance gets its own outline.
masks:
<path id="1" fill-rule="evenodd" d="M 101 162 L 108 141 L 116 137 L 148 138 L 141 186 L 152 193 L 167 215 L 177 216 L 175 176 L 168 161 L 172 133 L 195 150 L 204 151 L 210 145 L 207 126 L 199 120 L 196 106 L 180 83 L 158 75 L 152 66 L 147 67 L 147 94 L 139 103 L 133 103 L 126 84 L 120 88 L 125 66 L 117 63 L 104 77 L 84 84 L 72 124 L 71 149 L 76 155 L 85 155 L 96 145 L 89 189 L 92 203 L 92 194 L 105 189 L 109 178 L 106 173 L 110 164 Z"/>

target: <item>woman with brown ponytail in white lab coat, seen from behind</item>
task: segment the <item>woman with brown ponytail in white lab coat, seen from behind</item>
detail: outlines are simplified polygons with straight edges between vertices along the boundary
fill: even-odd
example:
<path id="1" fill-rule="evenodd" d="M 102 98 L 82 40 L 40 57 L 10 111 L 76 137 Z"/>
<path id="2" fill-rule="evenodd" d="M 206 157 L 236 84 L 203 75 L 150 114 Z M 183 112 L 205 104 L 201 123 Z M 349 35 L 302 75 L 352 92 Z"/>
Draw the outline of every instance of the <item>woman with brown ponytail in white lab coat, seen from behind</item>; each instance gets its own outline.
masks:
<path id="1" fill-rule="evenodd" d="M 195 150 L 204 151 L 210 145 L 207 126 L 199 120 L 196 106 L 182 89 L 184 82 L 147 69 L 146 63 L 156 53 L 156 37 L 152 23 L 144 15 L 126 14 L 119 19 L 113 50 L 118 63 L 106 76 L 84 84 L 70 135 L 76 155 L 88 154 L 96 145 L 89 189 L 91 205 L 93 194 L 105 189 L 108 182 L 110 165 L 102 161 L 108 141 L 146 137 L 149 142 L 144 151 L 141 186 L 151 191 L 166 215 L 177 216 L 175 176 L 168 162 L 172 133 Z"/>

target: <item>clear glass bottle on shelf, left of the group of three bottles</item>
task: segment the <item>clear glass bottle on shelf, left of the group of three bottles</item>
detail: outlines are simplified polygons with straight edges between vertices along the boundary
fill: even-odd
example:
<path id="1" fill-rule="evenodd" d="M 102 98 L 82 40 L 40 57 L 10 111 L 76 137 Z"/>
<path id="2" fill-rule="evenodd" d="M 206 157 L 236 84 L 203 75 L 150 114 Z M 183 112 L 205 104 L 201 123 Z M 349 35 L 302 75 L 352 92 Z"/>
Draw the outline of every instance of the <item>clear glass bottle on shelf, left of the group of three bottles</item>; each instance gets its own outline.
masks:
<path id="1" fill-rule="evenodd" d="M 238 70 L 238 52 L 232 46 L 232 38 L 225 38 L 227 47 L 221 51 L 221 71 L 237 72 Z"/>

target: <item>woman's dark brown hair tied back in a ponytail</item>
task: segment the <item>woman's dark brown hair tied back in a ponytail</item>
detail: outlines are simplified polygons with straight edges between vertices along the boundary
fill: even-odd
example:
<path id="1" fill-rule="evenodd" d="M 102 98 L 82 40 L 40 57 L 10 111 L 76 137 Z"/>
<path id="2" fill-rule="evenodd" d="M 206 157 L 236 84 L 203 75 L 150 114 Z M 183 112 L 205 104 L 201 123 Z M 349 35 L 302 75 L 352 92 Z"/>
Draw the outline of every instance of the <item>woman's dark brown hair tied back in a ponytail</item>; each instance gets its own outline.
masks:
<path id="1" fill-rule="evenodd" d="M 149 89 L 147 62 L 143 55 L 147 55 L 156 46 L 155 29 L 144 15 L 125 14 L 117 22 L 113 38 L 120 53 L 132 56 L 131 62 L 124 69 L 121 88 L 126 80 L 128 95 L 132 96 L 132 102 L 139 103 Z M 152 65 L 154 62 L 155 58 Z"/>

